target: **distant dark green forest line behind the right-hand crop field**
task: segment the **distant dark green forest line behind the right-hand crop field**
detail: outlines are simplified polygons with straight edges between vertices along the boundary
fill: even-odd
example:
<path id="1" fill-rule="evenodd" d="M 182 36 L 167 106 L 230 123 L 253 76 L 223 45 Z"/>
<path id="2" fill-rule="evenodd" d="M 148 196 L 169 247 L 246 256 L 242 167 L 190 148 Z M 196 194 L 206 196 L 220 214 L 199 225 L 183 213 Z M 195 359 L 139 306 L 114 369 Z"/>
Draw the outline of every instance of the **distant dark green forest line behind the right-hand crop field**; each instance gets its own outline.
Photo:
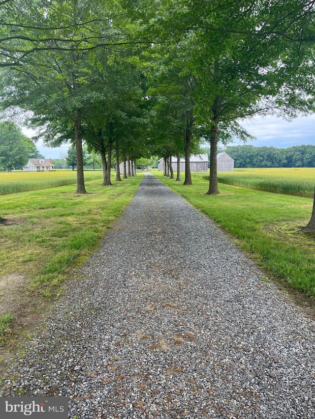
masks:
<path id="1" fill-rule="evenodd" d="M 315 145 L 288 148 L 234 145 L 225 148 L 235 168 L 314 168 Z"/>

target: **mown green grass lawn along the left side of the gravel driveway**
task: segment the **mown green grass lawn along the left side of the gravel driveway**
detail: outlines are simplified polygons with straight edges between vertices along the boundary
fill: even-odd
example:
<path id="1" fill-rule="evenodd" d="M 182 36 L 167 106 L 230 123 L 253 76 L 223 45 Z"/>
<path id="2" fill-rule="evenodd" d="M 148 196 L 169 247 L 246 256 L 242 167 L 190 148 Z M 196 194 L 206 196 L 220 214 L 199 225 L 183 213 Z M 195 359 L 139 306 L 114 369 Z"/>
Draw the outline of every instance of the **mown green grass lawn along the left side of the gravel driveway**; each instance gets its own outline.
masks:
<path id="1" fill-rule="evenodd" d="M 0 275 L 23 274 L 30 288 L 50 296 L 67 269 L 81 264 L 119 217 L 138 188 L 142 175 L 114 186 L 102 179 L 86 182 L 87 195 L 75 185 L 0 196 L 0 216 L 22 219 L 0 225 Z"/>

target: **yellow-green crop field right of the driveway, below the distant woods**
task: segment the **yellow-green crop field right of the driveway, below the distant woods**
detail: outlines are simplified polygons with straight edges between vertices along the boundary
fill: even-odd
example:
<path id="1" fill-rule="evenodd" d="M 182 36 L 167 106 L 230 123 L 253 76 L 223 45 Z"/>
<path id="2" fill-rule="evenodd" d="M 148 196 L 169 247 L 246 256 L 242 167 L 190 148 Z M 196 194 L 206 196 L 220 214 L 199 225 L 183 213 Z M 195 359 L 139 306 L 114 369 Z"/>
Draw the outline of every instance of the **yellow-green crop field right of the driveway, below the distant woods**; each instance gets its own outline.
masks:
<path id="1" fill-rule="evenodd" d="M 199 176 L 209 180 L 209 173 Z M 276 194 L 313 197 L 315 168 L 236 168 L 233 172 L 219 172 L 218 181 Z"/>

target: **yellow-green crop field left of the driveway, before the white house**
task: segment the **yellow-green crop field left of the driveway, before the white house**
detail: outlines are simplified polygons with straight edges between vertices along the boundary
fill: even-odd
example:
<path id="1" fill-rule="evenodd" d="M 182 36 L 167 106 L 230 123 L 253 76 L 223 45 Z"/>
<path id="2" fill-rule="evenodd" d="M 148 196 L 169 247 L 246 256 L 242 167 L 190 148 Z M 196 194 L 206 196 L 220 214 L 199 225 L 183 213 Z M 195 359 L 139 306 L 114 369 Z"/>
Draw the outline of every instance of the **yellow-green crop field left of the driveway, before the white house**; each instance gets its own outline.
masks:
<path id="1" fill-rule="evenodd" d="M 71 169 L 59 169 L 49 172 L 23 172 L 20 170 L 10 173 L 0 172 L 0 195 L 71 185 L 76 183 L 76 174 L 77 172 Z M 102 177 L 102 170 L 84 171 L 86 181 L 102 179 Z"/>

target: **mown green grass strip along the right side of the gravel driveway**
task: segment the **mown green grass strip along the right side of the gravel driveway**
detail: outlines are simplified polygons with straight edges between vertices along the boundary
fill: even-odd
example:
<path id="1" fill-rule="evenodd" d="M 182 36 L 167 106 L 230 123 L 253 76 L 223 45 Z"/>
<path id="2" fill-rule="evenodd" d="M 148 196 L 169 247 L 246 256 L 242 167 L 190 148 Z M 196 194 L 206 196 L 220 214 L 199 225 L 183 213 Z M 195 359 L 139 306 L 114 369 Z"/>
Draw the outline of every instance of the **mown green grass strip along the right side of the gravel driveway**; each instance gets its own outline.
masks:
<path id="1" fill-rule="evenodd" d="M 300 232 L 310 220 L 313 199 L 224 184 L 219 195 L 209 196 L 209 182 L 198 175 L 192 174 L 193 185 L 184 186 L 155 174 L 220 224 L 269 275 L 315 296 L 315 234 Z"/>

